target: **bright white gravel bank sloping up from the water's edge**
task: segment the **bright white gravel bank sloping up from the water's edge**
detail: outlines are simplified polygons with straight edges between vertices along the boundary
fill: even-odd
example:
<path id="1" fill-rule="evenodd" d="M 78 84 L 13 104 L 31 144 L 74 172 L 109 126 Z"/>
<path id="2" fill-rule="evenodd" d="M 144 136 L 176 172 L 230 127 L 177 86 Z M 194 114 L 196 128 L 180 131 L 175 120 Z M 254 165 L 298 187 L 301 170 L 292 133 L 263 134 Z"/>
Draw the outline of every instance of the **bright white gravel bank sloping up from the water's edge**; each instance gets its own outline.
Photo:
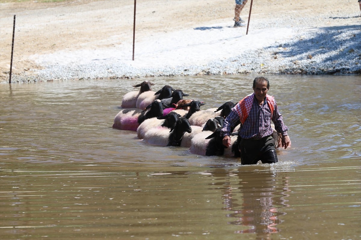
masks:
<path id="1" fill-rule="evenodd" d="M 199 74 L 361 74 L 361 18 L 350 13 L 321 21 L 354 19 L 355 25 L 312 28 L 320 18 L 255 22 L 248 35 L 225 23 L 137 39 L 112 49 L 33 55 L 42 65 L 14 82 L 135 78 Z M 287 24 L 285 24 L 287 23 Z M 293 27 L 297 24 L 297 27 Z M 302 27 L 299 27 L 299 26 Z M 243 28 L 244 30 L 244 28 Z"/>

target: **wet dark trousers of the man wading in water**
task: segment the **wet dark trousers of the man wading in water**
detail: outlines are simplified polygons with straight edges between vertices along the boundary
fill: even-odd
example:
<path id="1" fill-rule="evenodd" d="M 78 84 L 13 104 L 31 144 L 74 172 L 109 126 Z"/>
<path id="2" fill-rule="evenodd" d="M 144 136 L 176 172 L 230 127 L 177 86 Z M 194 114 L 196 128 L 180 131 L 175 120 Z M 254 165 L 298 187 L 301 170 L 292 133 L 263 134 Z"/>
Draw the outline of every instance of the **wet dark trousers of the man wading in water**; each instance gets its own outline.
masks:
<path id="1" fill-rule="evenodd" d="M 272 136 L 259 140 L 242 139 L 239 143 L 242 165 L 262 163 L 277 163 L 275 142 Z"/>

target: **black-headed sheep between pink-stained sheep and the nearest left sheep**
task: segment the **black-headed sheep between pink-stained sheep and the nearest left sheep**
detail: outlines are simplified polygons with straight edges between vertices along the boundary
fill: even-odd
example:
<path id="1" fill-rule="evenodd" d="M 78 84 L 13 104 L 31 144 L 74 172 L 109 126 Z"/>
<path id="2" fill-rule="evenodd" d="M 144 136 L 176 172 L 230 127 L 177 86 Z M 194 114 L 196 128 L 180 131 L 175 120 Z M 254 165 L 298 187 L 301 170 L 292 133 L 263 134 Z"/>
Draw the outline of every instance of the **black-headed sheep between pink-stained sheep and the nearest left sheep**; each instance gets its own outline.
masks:
<path id="1" fill-rule="evenodd" d="M 171 128 L 179 117 L 181 117 L 181 115 L 178 113 L 170 112 L 165 116 L 145 119 L 136 130 L 138 139 L 143 139 L 145 133 L 151 128 L 158 126 Z"/>

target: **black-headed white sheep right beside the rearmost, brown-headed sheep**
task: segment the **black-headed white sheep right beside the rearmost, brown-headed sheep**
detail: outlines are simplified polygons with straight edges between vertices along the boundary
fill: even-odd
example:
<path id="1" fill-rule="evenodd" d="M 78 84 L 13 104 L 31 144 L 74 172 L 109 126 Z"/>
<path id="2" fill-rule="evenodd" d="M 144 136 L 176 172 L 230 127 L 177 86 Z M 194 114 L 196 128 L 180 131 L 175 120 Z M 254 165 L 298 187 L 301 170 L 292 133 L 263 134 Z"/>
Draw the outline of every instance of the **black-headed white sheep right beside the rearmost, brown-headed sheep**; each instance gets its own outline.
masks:
<path id="1" fill-rule="evenodd" d="M 154 91 L 143 92 L 142 94 L 139 95 L 139 97 L 136 101 L 135 107 L 139 108 L 139 109 L 144 109 L 149 104 L 152 104 L 153 101 L 156 99 L 161 100 L 161 99 L 165 99 L 165 98 L 171 98 L 172 91 L 175 91 L 173 89 L 173 87 L 171 87 L 169 85 L 165 85 L 157 92 L 154 92 Z"/>

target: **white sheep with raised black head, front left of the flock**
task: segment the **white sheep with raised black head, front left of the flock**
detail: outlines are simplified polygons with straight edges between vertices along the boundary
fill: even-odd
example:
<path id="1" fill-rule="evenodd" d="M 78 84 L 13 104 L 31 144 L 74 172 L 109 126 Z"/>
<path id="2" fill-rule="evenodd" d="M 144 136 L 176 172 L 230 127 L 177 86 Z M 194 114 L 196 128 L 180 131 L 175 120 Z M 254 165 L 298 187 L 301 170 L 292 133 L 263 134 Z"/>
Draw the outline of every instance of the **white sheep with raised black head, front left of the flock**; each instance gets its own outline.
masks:
<path id="1" fill-rule="evenodd" d="M 180 146 L 184 132 L 191 133 L 192 128 L 185 117 L 178 118 L 177 122 L 169 128 L 155 127 L 149 129 L 144 135 L 143 141 L 147 144 L 160 146 Z"/>

